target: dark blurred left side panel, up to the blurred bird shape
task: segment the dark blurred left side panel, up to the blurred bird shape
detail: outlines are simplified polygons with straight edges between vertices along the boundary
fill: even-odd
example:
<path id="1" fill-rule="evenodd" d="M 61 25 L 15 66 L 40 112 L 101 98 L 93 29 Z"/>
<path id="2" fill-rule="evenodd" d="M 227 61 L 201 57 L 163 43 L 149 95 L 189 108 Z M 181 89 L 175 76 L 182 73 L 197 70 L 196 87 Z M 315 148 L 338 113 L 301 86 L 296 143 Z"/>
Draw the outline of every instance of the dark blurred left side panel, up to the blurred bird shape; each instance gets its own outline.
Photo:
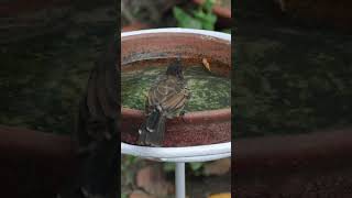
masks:
<path id="1" fill-rule="evenodd" d="M 70 180 L 78 105 L 95 62 L 117 34 L 116 11 L 110 0 L 1 1 L 3 197 L 56 197 Z"/>

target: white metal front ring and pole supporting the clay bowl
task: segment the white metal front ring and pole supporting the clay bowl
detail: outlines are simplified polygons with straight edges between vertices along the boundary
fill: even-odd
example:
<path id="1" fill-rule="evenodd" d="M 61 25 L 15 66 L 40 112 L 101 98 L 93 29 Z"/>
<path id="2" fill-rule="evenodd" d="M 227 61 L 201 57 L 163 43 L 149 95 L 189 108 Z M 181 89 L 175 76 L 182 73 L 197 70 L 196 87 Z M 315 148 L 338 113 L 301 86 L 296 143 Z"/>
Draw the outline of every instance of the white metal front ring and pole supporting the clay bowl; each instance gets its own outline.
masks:
<path id="1" fill-rule="evenodd" d="M 231 142 L 187 147 L 148 147 L 121 143 L 121 153 L 158 162 L 176 163 L 176 198 L 185 198 L 185 163 L 207 162 L 230 157 Z"/>

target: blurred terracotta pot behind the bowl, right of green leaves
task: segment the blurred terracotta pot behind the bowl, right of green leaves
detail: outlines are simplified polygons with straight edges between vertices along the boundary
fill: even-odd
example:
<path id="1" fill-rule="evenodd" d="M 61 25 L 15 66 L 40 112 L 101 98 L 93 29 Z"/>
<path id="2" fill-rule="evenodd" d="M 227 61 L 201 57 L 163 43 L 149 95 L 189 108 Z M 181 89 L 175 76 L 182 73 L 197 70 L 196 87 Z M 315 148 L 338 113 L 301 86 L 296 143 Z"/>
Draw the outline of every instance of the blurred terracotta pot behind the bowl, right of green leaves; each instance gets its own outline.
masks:
<path id="1" fill-rule="evenodd" d="M 197 4 L 202 4 L 205 0 L 194 0 Z M 231 8 L 215 6 L 212 8 L 215 14 L 218 15 L 218 26 L 220 28 L 231 28 L 232 18 L 231 18 Z"/>

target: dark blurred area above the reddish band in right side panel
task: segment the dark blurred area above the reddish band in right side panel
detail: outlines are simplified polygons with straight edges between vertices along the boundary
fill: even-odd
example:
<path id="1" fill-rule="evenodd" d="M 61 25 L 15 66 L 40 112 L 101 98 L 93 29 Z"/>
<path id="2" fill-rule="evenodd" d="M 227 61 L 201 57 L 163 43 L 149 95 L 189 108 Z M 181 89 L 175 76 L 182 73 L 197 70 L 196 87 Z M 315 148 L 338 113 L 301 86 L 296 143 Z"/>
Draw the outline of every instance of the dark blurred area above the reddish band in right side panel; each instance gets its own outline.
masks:
<path id="1" fill-rule="evenodd" d="M 346 8 L 352 4 L 246 0 L 237 6 L 237 138 L 349 125 L 352 14 Z"/>

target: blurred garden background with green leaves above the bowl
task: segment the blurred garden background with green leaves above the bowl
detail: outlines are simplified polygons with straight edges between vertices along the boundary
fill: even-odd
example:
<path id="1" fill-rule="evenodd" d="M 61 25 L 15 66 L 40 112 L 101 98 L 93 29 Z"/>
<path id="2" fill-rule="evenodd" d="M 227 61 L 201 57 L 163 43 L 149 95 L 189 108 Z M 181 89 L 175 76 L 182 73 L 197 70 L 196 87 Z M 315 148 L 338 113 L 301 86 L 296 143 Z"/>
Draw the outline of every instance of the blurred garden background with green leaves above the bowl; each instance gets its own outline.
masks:
<path id="1" fill-rule="evenodd" d="M 122 0 L 123 31 L 155 28 L 189 28 L 230 32 L 230 0 Z"/>

